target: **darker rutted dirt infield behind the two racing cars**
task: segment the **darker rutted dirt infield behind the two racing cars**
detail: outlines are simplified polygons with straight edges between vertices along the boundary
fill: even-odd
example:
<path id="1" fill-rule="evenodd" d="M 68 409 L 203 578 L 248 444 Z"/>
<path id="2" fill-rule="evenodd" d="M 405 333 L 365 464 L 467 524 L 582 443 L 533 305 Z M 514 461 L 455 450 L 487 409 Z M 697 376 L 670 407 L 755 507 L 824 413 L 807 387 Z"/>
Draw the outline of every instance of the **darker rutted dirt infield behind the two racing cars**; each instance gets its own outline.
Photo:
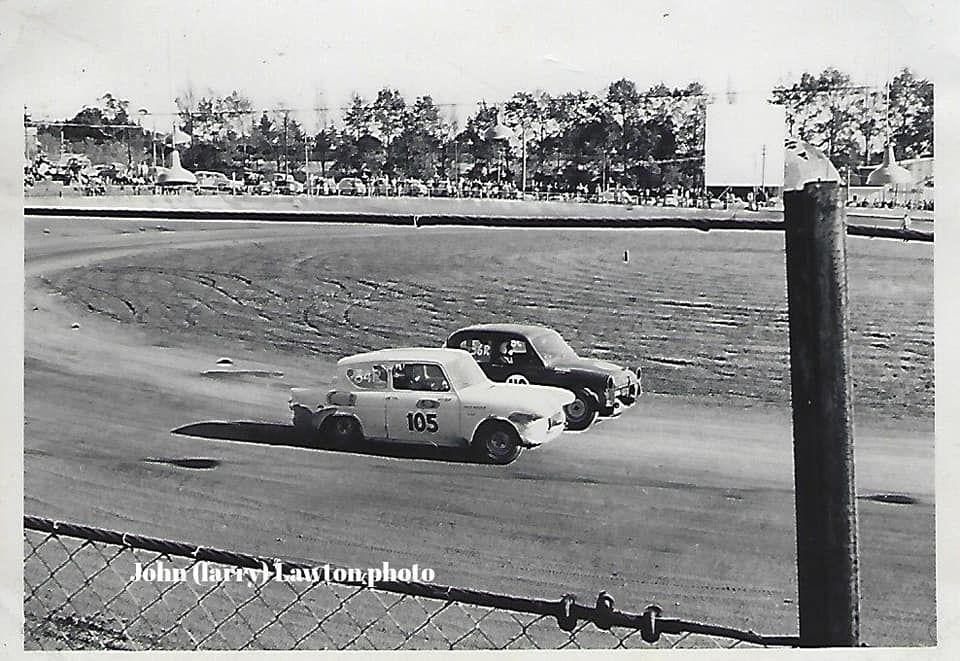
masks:
<path id="1" fill-rule="evenodd" d="M 585 354 L 645 367 L 653 392 L 789 401 L 782 254 L 774 251 L 768 259 L 762 250 L 743 251 L 742 238 L 718 236 L 705 253 L 709 258 L 697 261 L 686 258 L 686 238 L 637 234 L 617 237 L 634 255 L 630 264 L 620 259 L 620 245 L 616 259 L 599 259 L 612 248 L 586 233 L 571 242 L 562 233 L 533 238 L 498 232 L 489 245 L 474 242 L 470 250 L 434 235 L 431 259 L 420 254 L 422 241 L 411 233 L 383 244 L 352 241 L 349 252 L 303 242 L 275 244 L 274 250 L 224 247 L 216 251 L 217 268 L 196 268 L 201 260 L 186 254 L 167 268 L 193 273 L 200 286 L 235 306 L 231 325 L 243 329 L 218 329 L 228 340 L 269 335 L 273 344 L 295 348 L 308 331 L 314 347 L 338 358 L 390 344 L 434 346 L 455 327 L 477 321 L 543 323 Z M 501 237 L 519 239 L 505 251 Z M 730 245 L 729 253 L 717 248 L 722 244 Z M 754 263 L 778 278 L 758 277 Z M 858 281 L 851 280 L 853 298 Z M 182 305 L 174 302 L 169 314 L 187 318 Z M 889 328 L 904 317 L 892 310 L 858 303 L 851 329 L 858 400 L 877 408 L 929 409 L 931 327 L 915 322 L 928 321 L 932 302 L 926 309 L 922 301 L 906 306 L 920 316 L 911 327 Z M 877 332 L 891 337 L 870 335 Z M 910 380 L 917 385 L 908 386 Z"/>

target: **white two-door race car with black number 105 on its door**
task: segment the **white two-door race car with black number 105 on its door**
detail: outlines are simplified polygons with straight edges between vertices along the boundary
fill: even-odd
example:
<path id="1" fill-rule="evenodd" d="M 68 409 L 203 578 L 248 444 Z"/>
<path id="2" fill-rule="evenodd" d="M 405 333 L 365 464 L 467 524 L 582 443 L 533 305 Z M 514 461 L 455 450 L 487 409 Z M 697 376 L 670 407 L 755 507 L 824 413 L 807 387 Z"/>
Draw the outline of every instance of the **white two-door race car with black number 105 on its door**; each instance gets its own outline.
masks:
<path id="1" fill-rule="evenodd" d="M 569 391 L 494 383 L 460 349 L 383 349 L 343 358 L 333 390 L 293 388 L 293 424 L 337 446 L 364 439 L 471 447 L 498 464 L 564 429 Z"/>

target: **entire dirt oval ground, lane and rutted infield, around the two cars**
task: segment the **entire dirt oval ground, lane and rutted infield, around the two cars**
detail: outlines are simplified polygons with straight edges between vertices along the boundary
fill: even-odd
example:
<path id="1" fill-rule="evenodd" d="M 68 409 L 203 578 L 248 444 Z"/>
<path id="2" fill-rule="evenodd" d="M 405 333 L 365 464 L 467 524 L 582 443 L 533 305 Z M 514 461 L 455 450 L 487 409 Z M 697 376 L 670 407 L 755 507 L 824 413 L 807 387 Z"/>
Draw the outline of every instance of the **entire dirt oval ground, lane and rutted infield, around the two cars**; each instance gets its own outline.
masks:
<path id="1" fill-rule="evenodd" d="M 591 287 L 632 286 L 614 270 L 621 235 L 594 267 L 570 255 L 601 233 L 570 232 L 549 250 L 530 233 L 498 257 L 497 232 L 27 219 L 25 511 L 269 556 L 416 563 L 438 583 L 511 594 L 592 602 L 606 590 L 625 610 L 657 602 L 671 616 L 795 633 L 782 237 L 780 252 L 763 237 L 741 262 L 765 260 L 780 280 L 736 285 L 707 278 L 739 243 L 634 233 L 622 239 L 630 268 L 646 263 L 658 282 L 636 309 L 597 320 Z M 850 247 L 863 639 L 933 644 L 932 248 L 880 243 Z M 716 261 L 684 261 L 685 246 Z M 363 272 L 376 250 L 392 275 Z M 916 280 L 896 304 L 883 278 L 901 262 Z M 664 264 L 696 284 L 674 291 Z M 538 278 L 551 269 L 577 284 L 545 301 Z M 495 288 L 490 272 L 505 274 Z M 460 293 L 437 294 L 417 275 L 428 273 Z M 738 309 L 738 286 L 767 298 Z M 726 288 L 726 304 L 711 287 Z M 504 302 L 556 310 L 576 348 L 641 362 L 653 392 L 508 467 L 429 448 L 296 446 L 289 387 L 326 383 L 336 357 L 371 344 L 438 345 Z M 868 498 L 890 493 L 916 502 Z"/>

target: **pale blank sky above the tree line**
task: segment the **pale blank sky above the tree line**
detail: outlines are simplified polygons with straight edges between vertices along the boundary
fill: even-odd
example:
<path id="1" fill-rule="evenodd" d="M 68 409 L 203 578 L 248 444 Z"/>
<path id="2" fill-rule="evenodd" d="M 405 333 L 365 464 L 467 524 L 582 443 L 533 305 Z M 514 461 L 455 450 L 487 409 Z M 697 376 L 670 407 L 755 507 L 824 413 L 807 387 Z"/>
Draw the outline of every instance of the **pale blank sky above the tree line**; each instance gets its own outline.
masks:
<path id="1" fill-rule="evenodd" d="M 35 118 L 72 116 L 109 91 L 163 124 L 187 89 L 236 89 L 257 108 L 304 109 L 309 127 L 320 118 L 310 109 L 384 86 L 475 104 L 519 89 L 602 93 L 622 77 L 743 96 L 826 67 L 864 84 L 903 67 L 935 79 L 960 68 L 945 47 L 957 34 L 952 4 L 53 0 L 15 1 L 12 13 Z"/>

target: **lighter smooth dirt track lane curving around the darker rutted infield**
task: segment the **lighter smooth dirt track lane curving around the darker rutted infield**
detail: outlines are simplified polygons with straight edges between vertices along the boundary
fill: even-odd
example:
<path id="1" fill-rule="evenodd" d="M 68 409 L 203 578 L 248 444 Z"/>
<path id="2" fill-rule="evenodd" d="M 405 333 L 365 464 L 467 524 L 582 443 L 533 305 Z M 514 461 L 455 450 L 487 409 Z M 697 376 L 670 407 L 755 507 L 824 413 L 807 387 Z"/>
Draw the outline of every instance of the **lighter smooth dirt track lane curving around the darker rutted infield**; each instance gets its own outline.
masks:
<path id="1" fill-rule="evenodd" d="M 171 341 L 46 283 L 116 257 L 296 244 L 318 228 L 163 225 L 176 231 L 27 221 L 25 511 L 347 566 L 417 563 L 440 583 L 513 594 L 607 590 L 629 610 L 655 601 L 670 615 L 796 631 L 789 409 L 648 396 L 506 468 L 429 450 L 293 447 L 287 388 L 326 379 L 329 360 Z M 284 376 L 203 374 L 221 355 Z M 206 421 L 242 422 L 170 433 Z M 932 644 L 932 417 L 860 416 L 856 439 L 861 494 L 919 501 L 860 501 L 864 640 Z M 187 457 L 219 465 L 145 461 Z"/>

